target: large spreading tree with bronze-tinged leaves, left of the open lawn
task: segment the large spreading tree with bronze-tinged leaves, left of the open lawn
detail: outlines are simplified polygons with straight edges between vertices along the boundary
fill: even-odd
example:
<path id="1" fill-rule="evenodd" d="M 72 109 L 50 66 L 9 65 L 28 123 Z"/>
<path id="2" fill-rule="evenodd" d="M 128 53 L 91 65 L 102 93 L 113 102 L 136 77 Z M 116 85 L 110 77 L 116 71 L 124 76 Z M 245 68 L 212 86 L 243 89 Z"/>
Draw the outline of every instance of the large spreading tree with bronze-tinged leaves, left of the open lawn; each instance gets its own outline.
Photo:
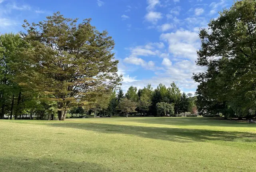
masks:
<path id="1" fill-rule="evenodd" d="M 59 120 L 66 118 L 68 108 L 84 94 L 99 87 L 111 90 L 120 81 L 112 53 L 114 40 L 90 21 L 77 24 L 78 19 L 57 12 L 37 24 L 24 24 L 22 36 L 33 46 L 26 55 L 34 64 L 34 82 L 54 96 Z"/>

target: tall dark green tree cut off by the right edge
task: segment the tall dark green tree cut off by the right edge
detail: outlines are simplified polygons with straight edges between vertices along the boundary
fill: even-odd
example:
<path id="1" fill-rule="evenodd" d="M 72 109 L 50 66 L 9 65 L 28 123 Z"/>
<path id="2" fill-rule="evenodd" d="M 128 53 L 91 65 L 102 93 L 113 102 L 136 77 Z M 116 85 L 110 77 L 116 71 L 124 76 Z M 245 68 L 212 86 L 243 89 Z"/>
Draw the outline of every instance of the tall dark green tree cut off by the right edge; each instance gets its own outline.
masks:
<path id="1" fill-rule="evenodd" d="M 199 82 L 200 113 L 234 110 L 243 117 L 256 107 L 256 1 L 234 2 L 200 31 L 199 66 L 207 71 L 194 75 Z"/>

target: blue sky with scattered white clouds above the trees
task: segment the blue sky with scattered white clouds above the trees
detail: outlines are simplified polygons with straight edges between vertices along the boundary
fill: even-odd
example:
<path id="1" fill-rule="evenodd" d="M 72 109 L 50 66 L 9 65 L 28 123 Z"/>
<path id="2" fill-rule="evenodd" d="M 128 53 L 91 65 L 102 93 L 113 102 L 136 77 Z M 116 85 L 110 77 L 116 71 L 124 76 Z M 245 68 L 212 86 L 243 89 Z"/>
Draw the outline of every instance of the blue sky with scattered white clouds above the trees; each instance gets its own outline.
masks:
<path id="1" fill-rule="evenodd" d="M 122 88 L 176 82 L 186 93 L 197 87 L 193 72 L 198 31 L 233 0 L 0 0 L 0 33 L 22 30 L 23 20 L 38 22 L 60 11 L 67 18 L 92 18 L 115 40 Z"/>

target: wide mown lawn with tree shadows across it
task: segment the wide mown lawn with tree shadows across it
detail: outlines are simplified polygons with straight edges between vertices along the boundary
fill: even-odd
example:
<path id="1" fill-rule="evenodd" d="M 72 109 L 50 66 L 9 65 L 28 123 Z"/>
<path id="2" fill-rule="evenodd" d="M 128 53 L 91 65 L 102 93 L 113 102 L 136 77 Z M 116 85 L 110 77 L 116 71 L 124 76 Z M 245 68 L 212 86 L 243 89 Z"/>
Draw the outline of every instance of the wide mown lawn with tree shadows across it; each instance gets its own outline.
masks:
<path id="1" fill-rule="evenodd" d="M 0 120 L 0 172 L 256 171 L 256 124 L 203 117 Z"/>

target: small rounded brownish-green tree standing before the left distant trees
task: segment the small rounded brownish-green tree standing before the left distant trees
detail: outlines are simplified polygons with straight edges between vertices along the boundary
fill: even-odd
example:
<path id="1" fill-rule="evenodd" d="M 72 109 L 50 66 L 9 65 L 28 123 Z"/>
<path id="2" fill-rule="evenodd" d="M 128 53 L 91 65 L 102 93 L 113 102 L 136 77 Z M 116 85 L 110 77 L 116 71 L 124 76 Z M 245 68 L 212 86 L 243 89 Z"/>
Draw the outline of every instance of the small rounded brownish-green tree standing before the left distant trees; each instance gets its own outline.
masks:
<path id="1" fill-rule="evenodd" d="M 126 118 L 128 118 L 128 114 L 132 112 L 136 112 L 137 104 L 128 98 L 123 98 L 120 100 L 118 104 L 118 110 L 126 114 Z"/>

